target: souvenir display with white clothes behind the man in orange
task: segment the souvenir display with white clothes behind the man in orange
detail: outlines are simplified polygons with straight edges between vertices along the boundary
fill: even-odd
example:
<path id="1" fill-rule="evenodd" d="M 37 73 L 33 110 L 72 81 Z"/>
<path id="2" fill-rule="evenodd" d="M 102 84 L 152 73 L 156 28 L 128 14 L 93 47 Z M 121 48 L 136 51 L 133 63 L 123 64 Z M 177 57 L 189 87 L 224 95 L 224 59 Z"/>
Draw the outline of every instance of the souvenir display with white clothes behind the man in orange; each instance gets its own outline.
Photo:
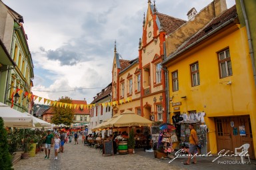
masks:
<path id="1" fill-rule="evenodd" d="M 207 154 L 207 126 L 205 125 L 205 112 L 199 113 L 183 113 L 173 116 L 173 123 L 177 128 L 177 136 L 179 137 L 179 149 L 187 149 L 189 147 L 189 124 L 193 124 L 193 128 L 197 132 L 199 145 L 198 153 Z"/>

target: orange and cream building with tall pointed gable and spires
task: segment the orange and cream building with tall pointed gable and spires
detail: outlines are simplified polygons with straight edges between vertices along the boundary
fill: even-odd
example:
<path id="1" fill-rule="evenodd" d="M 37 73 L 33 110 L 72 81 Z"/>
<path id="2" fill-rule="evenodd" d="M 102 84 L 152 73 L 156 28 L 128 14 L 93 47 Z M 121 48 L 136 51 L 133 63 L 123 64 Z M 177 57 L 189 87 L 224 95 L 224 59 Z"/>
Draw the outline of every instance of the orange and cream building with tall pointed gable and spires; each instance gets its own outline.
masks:
<path id="1" fill-rule="evenodd" d="M 159 13 L 155 4 L 148 1 L 139 57 L 131 61 L 121 60 L 115 48 L 112 68 L 115 114 L 128 109 L 155 122 L 169 122 L 165 70 L 161 68 L 165 35 L 184 23 L 186 21 Z"/>

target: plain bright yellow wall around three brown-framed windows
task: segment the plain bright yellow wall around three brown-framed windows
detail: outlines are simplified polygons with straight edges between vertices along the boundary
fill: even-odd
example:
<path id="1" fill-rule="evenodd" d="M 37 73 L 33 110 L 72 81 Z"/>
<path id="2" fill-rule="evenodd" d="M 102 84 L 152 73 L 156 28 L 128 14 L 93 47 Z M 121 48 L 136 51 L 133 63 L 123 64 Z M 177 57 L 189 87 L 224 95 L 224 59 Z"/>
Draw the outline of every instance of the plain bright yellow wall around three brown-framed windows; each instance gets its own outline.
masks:
<path id="1" fill-rule="evenodd" d="M 256 137 L 256 93 L 251 61 L 245 29 L 238 27 L 239 25 L 233 25 L 167 64 L 170 96 L 173 96 L 173 103 L 181 102 L 178 111 L 183 113 L 196 110 L 206 113 L 205 123 L 210 130 L 208 149 L 212 153 L 217 152 L 213 117 L 250 115 L 253 137 Z M 217 52 L 227 47 L 230 50 L 233 76 L 219 78 Z M 200 85 L 195 87 L 191 87 L 189 66 L 193 62 L 199 62 L 200 74 Z M 175 70 L 179 72 L 179 91 L 172 92 L 171 72 Z M 229 81 L 232 84 L 228 85 Z M 183 99 L 182 96 L 187 98 Z M 173 108 L 171 106 L 171 112 L 174 111 Z"/>

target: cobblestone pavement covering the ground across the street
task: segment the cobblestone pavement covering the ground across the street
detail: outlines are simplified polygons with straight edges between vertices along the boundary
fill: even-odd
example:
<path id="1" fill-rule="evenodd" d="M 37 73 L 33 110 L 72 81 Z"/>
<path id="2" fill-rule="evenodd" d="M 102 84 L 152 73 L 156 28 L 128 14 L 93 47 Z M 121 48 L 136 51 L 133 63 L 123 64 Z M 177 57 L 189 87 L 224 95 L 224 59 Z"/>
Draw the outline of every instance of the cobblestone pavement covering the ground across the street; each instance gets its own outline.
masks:
<path id="1" fill-rule="evenodd" d="M 234 164 L 235 159 L 221 157 L 212 162 L 216 157 L 199 157 L 197 164 L 183 165 L 187 158 L 177 158 L 169 163 L 170 159 L 161 160 L 154 157 L 154 153 L 147 153 L 143 149 L 135 149 L 135 154 L 103 156 L 99 149 L 90 148 L 81 143 L 78 145 L 65 143 L 64 153 L 59 153 L 58 160 L 54 160 L 53 148 L 51 159 L 44 159 L 45 153 L 37 153 L 35 157 L 21 159 L 13 167 L 15 170 L 46 170 L 46 169 L 256 169 L 256 161 L 251 160 L 249 165 Z M 237 161 L 239 158 L 237 159 Z M 247 160 L 247 159 L 246 159 Z M 219 161 L 219 162 L 218 162 Z"/>

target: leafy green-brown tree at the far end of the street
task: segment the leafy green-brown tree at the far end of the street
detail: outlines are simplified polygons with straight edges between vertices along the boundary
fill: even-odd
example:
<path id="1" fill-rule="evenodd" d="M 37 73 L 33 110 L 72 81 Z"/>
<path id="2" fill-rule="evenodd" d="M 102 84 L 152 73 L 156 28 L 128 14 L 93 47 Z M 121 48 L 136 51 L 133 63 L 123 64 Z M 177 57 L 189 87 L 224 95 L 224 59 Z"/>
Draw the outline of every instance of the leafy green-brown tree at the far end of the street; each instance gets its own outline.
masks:
<path id="1" fill-rule="evenodd" d="M 71 98 L 65 96 L 59 98 L 57 102 L 61 103 L 67 103 L 67 104 L 72 104 Z M 70 126 L 71 123 L 73 122 L 73 113 L 74 109 L 70 108 L 69 106 L 51 106 L 53 108 L 53 118 L 51 122 L 53 124 L 59 125 L 59 124 L 65 124 L 66 126 Z"/>

